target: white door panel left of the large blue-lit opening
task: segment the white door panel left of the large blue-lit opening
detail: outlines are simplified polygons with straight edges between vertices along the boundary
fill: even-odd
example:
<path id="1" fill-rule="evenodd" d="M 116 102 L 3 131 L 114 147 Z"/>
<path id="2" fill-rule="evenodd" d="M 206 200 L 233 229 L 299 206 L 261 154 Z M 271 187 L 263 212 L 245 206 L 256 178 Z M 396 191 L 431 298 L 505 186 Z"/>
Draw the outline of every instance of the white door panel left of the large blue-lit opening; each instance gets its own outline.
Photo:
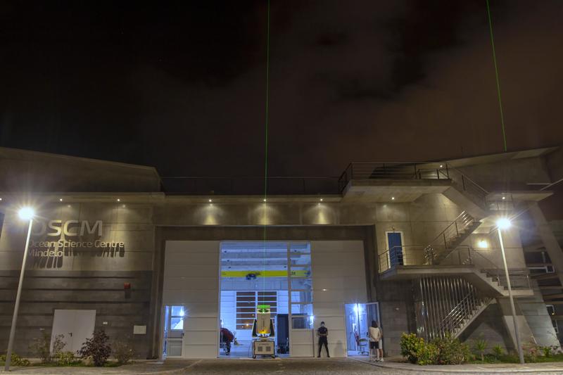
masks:
<path id="1" fill-rule="evenodd" d="M 219 241 L 167 241 L 163 305 L 183 305 L 184 358 L 215 358 L 219 343 Z"/>

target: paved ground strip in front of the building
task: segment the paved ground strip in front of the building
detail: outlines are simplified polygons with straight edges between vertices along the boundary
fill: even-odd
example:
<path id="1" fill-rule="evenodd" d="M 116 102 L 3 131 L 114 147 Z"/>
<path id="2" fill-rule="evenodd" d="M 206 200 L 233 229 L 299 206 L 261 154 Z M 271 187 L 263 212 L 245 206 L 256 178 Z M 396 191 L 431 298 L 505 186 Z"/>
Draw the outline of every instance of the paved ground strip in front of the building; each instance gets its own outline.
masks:
<path id="1" fill-rule="evenodd" d="M 463 366 L 417 366 L 397 362 L 382 365 L 354 359 L 283 359 L 283 360 L 169 360 L 140 362 L 116 368 L 95 367 L 26 367 L 15 368 L 21 375 L 115 375 L 115 374 L 184 374 L 184 375 L 417 375 L 417 374 L 563 374 L 563 363 L 556 364 L 491 364 Z"/>

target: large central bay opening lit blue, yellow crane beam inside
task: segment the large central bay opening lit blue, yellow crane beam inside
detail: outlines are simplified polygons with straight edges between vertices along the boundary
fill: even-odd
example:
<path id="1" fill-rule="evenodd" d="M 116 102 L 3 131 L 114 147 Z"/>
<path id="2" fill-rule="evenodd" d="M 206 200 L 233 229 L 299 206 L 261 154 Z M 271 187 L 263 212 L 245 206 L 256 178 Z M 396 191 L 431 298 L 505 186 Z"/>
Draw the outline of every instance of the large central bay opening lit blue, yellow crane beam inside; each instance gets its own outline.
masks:
<path id="1" fill-rule="evenodd" d="M 226 241 L 220 254 L 219 357 L 252 357 L 258 305 L 270 306 L 277 356 L 312 356 L 310 243 Z"/>

